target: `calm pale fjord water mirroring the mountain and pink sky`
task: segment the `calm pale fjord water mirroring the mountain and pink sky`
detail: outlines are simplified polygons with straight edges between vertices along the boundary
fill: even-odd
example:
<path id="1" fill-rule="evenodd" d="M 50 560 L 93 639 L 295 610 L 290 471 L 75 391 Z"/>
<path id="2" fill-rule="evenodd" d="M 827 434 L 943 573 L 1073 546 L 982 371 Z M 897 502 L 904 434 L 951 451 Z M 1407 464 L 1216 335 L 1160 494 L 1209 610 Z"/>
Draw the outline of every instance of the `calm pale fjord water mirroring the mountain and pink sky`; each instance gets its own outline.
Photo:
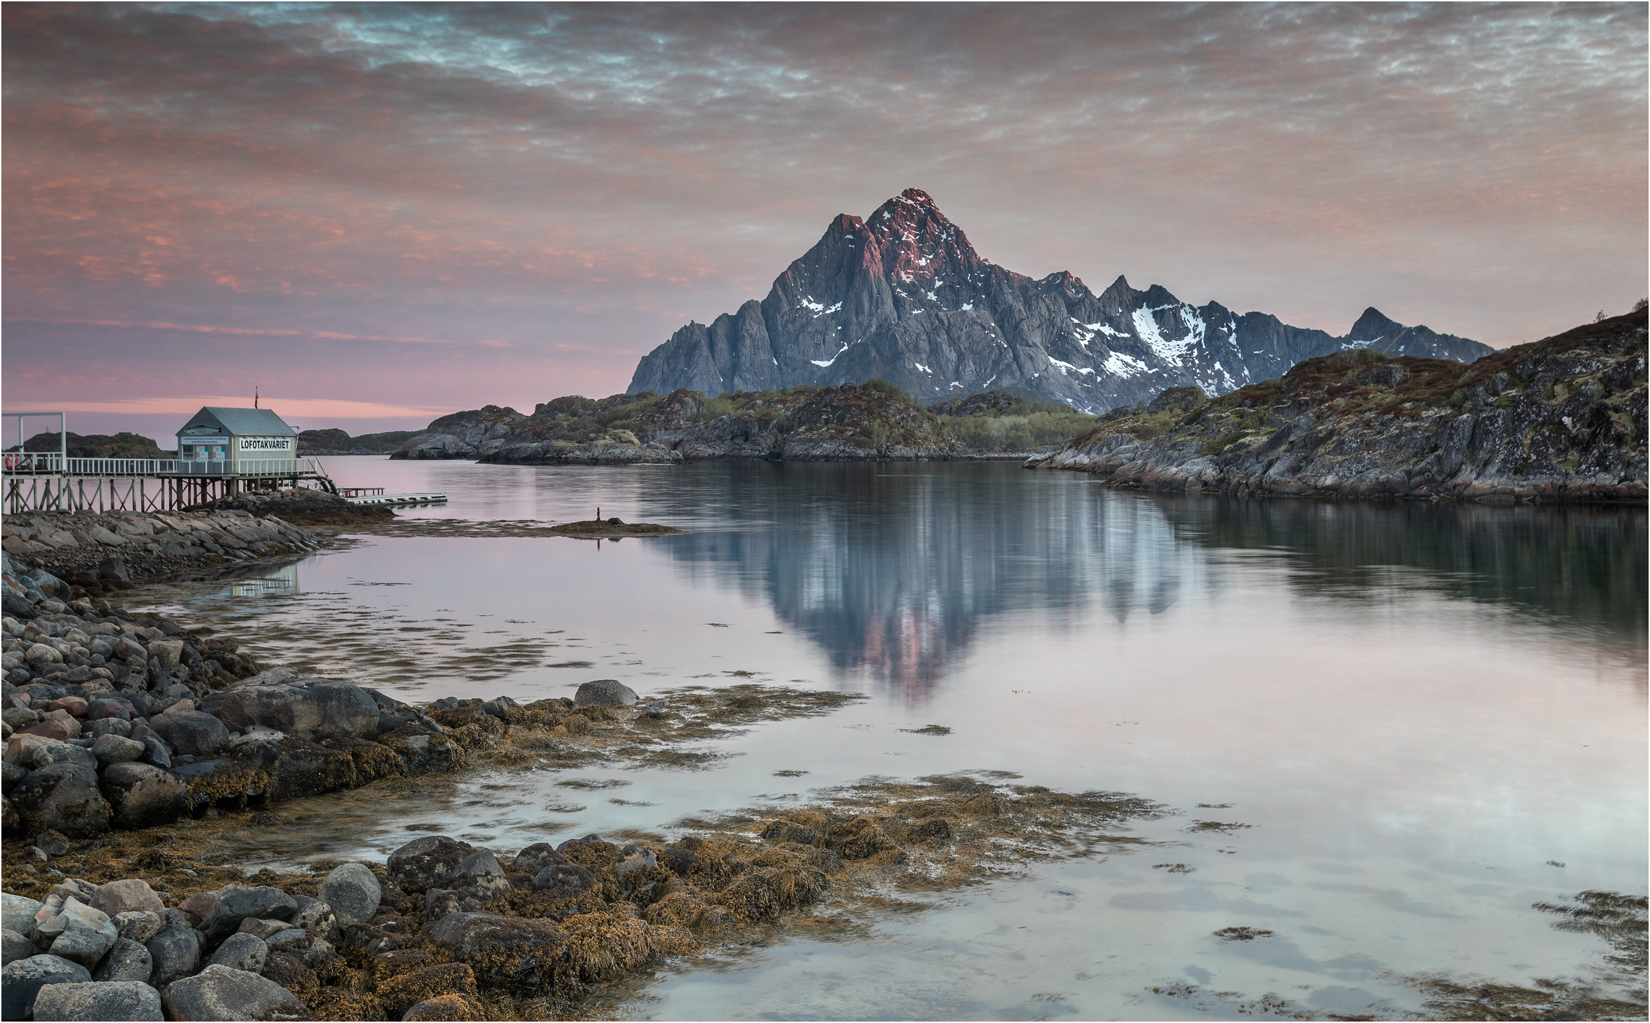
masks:
<path id="1" fill-rule="evenodd" d="M 1638 508 L 1172 498 L 1015 464 L 328 467 L 449 493 L 412 518 L 601 505 L 688 533 L 366 536 L 173 609 L 261 660 L 419 701 L 589 678 L 868 698 L 719 742 L 708 771 L 483 772 L 417 805 L 356 799 L 249 863 L 436 827 L 500 851 L 675 835 L 871 776 L 1003 771 L 1173 810 L 1127 830 L 1142 845 L 904 894 L 853 939 L 670 964 L 615 995 L 624 1015 L 1391 1016 L 1417 1006 L 1419 975 L 1591 978 L 1600 942 L 1531 906 L 1645 894 Z M 901 731 L 926 724 L 950 734 Z"/>

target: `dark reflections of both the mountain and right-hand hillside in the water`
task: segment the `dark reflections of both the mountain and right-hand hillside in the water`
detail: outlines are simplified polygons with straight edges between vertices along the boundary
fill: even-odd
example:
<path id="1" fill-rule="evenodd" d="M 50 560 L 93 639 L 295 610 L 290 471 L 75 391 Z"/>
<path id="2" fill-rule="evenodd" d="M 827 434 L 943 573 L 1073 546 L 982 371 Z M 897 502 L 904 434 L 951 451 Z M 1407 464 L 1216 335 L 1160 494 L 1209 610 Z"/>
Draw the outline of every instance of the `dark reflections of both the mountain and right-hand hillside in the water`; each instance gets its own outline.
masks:
<path id="1" fill-rule="evenodd" d="M 1163 497 L 1016 465 L 716 469 L 719 528 L 660 548 L 914 701 L 993 619 L 1158 615 L 1219 586 L 1216 551 L 1280 558 L 1312 597 L 1427 589 L 1645 645 L 1642 508 Z"/>

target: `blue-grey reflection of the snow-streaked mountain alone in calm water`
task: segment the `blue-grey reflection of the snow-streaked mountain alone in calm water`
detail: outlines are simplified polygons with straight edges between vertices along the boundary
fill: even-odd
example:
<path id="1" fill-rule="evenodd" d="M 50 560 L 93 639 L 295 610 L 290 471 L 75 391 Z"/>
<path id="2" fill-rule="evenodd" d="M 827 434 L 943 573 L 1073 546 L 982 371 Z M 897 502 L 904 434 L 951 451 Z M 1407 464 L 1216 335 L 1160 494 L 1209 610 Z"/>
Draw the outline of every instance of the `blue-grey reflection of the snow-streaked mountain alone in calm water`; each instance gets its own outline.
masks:
<path id="1" fill-rule="evenodd" d="M 1158 508 L 1092 487 L 952 467 L 729 475 L 741 521 L 662 549 L 759 592 L 840 672 L 912 700 L 988 619 L 1069 619 L 1096 602 L 1119 622 L 1162 614 L 1200 574 L 1193 548 Z"/>

